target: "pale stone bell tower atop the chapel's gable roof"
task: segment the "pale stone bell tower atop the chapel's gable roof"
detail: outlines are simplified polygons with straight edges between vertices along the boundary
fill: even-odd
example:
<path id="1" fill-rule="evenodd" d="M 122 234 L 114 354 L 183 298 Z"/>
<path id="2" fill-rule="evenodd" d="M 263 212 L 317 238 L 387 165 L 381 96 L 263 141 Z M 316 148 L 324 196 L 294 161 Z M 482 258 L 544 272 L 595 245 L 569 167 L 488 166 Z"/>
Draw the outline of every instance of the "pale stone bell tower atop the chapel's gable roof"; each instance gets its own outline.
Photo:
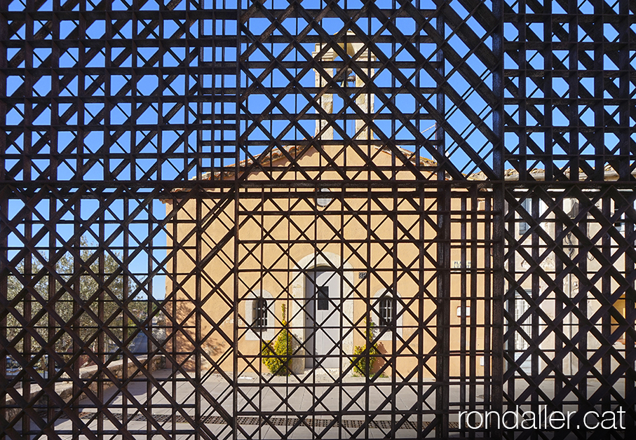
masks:
<path id="1" fill-rule="evenodd" d="M 347 31 L 347 36 L 349 36 L 351 40 L 355 39 L 355 34 L 353 34 L 352 31 Z M 341 48 L 346 49 L 346 54 L 349 55 L 350 57 L 355 56 L 356 53 L 358 53 L 358 51 L 363 47 L 363 43 L 346 43 L 346 44 L 339 43 L 339 45 L 341 46 Z M 320 52 L 320 49 L 322 49 L 323 46 L 325 46 L 324 43 L 316 43 L 316 51 L 313 53 L 314 58 L 316 58 L 316 56 Z M 338 57 L 337 53 L 335 53 L 333 49 L 330 49 L 330 50 L 327 50 L 327 52 L 320 58 L 320 61 L 330 62 L 330 61 L 334 61 L 337 57 Z M 374 69 L 368 69 L 366 67 L 368 61 L 375 61 L 375 56 L 372 53 L 370 53 L 368 49 L 365 50 L 360 55 L 358 55 L 358 57 L 356 57 L 354 61 L 358 63 L 360 68 L 363 69 L 363 71 L 365 71 L 368 77 L 371 78 L 374 75 Z M 341 68 L 339 67 L 337 69 L 334 69 L 333 67 L 325 67 L 325 72 L 331 78 L 334 77 L 334 74 L 338 73 L 339 82 L 341 83 L 344 82 L 345 85 L 349 83 L 349 81 L 353 81 L 353 79 L 355 79 L 356 90 L 351 90 L 351 95 L 353 95 L 356 92 L 359 92 L 359 89 L 365 86 L 365 81 L 363 81 L 363 78 L 360 78 L 355 72 L 348 71 L 343 75 L 343 74 L 340 74 L 339 69 Z M 316 73 L 316 88 L 320 89 L 325 87 L 325 85 L 327 85 L 327 78 L 325 78 L 325 73 L 318 70 L 315 70 L 315 73 Z M 373 95 L 370 95 L 368 92 L 361 92 L 360 95 L 356 97 L 356 104 L 358 105 L 358 107 L 360 107 L 360 109 L 363 112 L 365 112 L 365 114 L 372 114 L 373 99 L 374 99 Z M 319 97 L 318 103 L 320 104 L 320 106 L 323 108 L 323 110 L 326 113 L 333 114 L 334 99 L 333 99 L 332 93 L 327 92 L 321 97 Z M 318 113 L 319 111 L 316 110 L 316 114 Z M 356 121 L 355 123 L 356 135 L 355 136 L 352 135 L 352 137 L 354 137 L 355 139 L 360 139 L 360 140 L 373 139 L 373 132 L 371 132 L 371 130 L 367 128 L 367 126 L 365 125 L 365 121 L 363 121 L 360 118 L 356 118 L 356 115 L 351 115 L 351 116 L 348 115 L 348 118 L 350 117 L 355 118 L 355 121 Z M 318 118 L 318 120 L 316 120 L 316 137 L 318 137 L 318 133 L 320 133 L 320 131 L 323 130 L 323 128 L 325 127 L 327 127 L 327 121 L 323 118 Z M 346 128 L 344 128 L 344 131 L 346 132 Z M 320 135 L 320 139 L 333 139 L 333 138 L 334 138 L 334 129 L 332 126 L 327 127 L 325 131 L 323 132 L 323 134 Z"/>

